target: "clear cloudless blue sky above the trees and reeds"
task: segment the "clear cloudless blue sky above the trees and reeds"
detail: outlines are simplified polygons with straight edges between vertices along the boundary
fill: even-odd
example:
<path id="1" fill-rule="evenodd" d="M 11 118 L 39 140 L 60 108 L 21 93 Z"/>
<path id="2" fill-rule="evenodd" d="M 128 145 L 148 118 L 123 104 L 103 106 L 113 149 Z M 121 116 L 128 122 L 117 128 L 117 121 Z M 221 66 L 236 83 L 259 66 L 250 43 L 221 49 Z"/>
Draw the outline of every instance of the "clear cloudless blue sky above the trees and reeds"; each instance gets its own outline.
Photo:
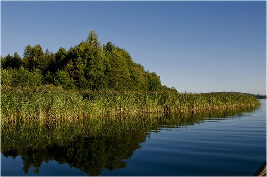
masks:
<path id="1" fill-rule="evenodd" d="M 266 1 L 1 1 L 2 57 L 91 29 L 179 92 L 266 95 Z"/>

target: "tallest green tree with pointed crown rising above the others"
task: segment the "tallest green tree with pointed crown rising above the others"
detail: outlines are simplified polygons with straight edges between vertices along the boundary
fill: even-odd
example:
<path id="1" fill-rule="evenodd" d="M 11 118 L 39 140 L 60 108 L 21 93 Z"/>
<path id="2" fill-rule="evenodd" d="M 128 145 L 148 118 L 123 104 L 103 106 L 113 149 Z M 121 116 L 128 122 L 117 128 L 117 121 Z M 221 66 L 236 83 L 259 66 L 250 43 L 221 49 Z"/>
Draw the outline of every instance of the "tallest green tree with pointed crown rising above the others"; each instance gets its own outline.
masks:
<path id="1" fill-rule="evenodd" d="M 106 88 L 105 61 L 98 35 L 91 30 L 86 41 L 70 48 L 65 70 L 80 89 L 98 90 Z"/>

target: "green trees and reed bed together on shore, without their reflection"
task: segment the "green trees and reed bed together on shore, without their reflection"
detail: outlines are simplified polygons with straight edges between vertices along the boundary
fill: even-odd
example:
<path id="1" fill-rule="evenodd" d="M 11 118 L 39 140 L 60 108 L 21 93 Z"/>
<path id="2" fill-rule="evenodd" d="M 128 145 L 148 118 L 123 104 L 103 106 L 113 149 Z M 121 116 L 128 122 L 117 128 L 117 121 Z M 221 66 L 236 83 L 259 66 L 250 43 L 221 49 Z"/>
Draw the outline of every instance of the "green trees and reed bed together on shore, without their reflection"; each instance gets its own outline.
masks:
<path id="1" fill-rule="evenodd" d="M 91 30 L 86 41 L 55 54 L 27 45 L 23 58 L 1 57 L 1 122 L 141 113 L 196 111 L 256 105 L 241 93 L 178 93 L 162 86 L 130 54 Z"/>

